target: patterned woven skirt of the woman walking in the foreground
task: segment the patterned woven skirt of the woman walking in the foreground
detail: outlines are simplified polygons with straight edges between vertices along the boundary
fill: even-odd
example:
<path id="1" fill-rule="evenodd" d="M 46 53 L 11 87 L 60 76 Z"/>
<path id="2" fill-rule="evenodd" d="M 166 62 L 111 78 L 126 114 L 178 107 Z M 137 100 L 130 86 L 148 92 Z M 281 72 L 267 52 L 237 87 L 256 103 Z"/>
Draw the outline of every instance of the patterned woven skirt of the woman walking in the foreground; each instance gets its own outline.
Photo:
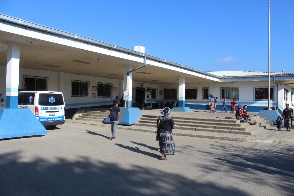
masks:
<path id="1" fill-rule="evenodd" d="M 159 152 L 165 155 L 174 155 L 176 145 L 173 142 L 173 134 L 171 131 L 159 129 Z"/>

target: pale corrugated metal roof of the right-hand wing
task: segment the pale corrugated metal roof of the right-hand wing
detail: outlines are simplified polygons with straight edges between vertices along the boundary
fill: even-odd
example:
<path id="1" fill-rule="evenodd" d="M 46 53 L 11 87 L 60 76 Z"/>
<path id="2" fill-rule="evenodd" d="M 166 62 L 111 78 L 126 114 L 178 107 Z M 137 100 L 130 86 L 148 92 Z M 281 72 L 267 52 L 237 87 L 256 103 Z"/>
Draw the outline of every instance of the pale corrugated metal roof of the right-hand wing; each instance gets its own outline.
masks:
<path id="1" fill-rule="evenodd" d="M 268 76 L 268 72 L 262 72 L 262 71 L 235 71 L 235 70 L 229 70 L 229 71 L 208 71 L 208 73 L 221 76 L 221 77 L 246 77 L 246 76 Z M 293 75 L 294 73 L 285 73 L 285 72 L 270 72 L 270 75 Z"/>

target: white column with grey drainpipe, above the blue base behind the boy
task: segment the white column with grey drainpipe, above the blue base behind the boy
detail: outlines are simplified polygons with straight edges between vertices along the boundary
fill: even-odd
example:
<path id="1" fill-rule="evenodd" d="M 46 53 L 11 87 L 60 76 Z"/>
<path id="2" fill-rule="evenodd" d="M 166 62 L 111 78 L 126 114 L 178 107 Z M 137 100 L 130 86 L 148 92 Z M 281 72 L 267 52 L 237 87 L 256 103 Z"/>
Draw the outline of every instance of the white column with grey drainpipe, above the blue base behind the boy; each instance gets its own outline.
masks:
<path id="1" fill-rule="evenodd" d="M 130 73 L 127 76 L 129 71 L 132 71 L 133 66 L 125 65 L 123 73 L 123 100 L 125 101 L 125 106 L 127 108 L 132 107 L 132 84 L 133 84 L 133 74 Z"/>

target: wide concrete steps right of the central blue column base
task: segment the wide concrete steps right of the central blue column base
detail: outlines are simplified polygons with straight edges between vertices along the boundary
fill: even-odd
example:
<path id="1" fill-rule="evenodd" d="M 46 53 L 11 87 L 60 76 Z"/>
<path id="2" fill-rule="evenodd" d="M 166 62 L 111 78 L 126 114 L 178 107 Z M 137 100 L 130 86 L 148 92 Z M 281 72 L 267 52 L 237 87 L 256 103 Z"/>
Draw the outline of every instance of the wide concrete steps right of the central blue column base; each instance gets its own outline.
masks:
<path id="1" fill-rule="evenodd" d="M 156 127 L 158 116 L 142 115 L 136 125 L 146 127 Z M 257 125 L 248 125 L 248 123 L 240 123 L 236 119 L 217 119 L 217 118 L 185 118 L 185 117 L 172 117 L 176 124 L 176 130 L 195 130 L 216 133 L 233 133 L 242 135 L 252 135 L 258 133 L 265 128 L 271 126 L 264 118 L 255 116 Z"/>

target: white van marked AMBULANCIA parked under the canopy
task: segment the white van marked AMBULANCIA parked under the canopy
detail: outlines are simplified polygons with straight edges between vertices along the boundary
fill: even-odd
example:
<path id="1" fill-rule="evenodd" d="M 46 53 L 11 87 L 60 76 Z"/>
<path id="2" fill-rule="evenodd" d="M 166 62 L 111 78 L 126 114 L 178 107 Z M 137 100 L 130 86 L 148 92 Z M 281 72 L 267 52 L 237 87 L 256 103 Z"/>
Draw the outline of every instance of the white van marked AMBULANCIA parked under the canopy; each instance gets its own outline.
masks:
<path id="1" fill-rule="evenodd" d="M 65 123 L 64 97 L 54 91 L 20 91 L 18 108 L 29 108 L 44 126 L 54 129 Z"/>

